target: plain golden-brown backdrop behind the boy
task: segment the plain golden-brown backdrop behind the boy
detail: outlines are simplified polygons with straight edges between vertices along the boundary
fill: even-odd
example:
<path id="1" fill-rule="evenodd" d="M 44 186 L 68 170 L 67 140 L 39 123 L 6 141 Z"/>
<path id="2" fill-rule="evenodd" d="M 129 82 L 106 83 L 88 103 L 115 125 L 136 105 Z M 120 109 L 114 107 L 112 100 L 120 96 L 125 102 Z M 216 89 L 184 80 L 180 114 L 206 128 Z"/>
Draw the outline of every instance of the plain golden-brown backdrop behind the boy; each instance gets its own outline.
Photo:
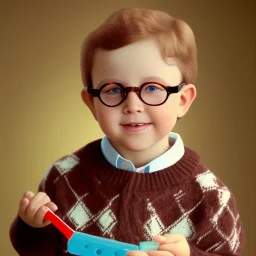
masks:
<path id="1" fill-rule="evenodd" d="M 198 45 L 198 97 L 175 127 L 233 191 L 255 255 L 256 4 L 253 0 L 1 1 L 1 250 L 19 199 L 57 158 L 102 136 L 80 99 L 80 45 L 119 7 L 182 18 Z M 254 232 L 254 233 L 253 233 Z"/>

